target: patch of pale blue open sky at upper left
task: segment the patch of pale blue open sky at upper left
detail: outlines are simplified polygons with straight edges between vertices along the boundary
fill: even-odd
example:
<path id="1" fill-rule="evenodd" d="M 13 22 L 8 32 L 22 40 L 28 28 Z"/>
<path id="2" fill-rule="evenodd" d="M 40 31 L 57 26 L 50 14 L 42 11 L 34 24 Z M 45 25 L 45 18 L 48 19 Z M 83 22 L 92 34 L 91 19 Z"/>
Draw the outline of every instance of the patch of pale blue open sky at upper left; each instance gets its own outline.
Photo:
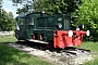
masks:
<path id="1" fill-rule="evenodd" d="M 11 1 L 3 0 L 2 8 L 3 8 L 7 12 L 12 12 L 13 15 L 14 15 L 14 17 L 17 16 L 17 14 L 16 14 L 16 8 L 12 5 L 12 2 L 11 2 Z"/>

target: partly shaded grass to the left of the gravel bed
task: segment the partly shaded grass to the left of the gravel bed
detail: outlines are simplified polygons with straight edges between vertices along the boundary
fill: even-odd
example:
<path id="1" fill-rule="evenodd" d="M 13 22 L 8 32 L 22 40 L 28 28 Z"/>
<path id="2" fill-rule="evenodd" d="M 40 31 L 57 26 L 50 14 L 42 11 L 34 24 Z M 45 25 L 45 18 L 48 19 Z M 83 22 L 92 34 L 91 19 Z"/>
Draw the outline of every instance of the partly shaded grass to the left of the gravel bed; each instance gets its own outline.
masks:
<path id="1" fill-rule="evenodd" d="M 13 36 L 0 38 L 0 65 L 51 65 L 40 57 L 26 54 L 5 44 L 15 41 L 17 40 Z"/>

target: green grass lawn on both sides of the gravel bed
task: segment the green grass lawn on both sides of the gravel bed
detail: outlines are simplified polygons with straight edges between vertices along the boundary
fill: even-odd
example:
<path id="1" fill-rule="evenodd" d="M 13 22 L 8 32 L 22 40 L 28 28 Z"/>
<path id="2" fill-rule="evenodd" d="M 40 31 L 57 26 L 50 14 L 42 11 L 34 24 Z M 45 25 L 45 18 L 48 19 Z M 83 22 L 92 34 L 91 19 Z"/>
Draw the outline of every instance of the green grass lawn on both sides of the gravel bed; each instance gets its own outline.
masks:
<path id="1" fill-rule="evenodd" d="M 5 44 L 15 41 L 17 40 L 13 36 L 0 38 L 0 65 L 51 65 L 51 63 L 42 61 L 40 57 L 26 54 Z M 98 55 L 98 42 L 84 42 L 79 48 L 91 50 Z M 98 56 L 83 65 L 98 65 Z"/>

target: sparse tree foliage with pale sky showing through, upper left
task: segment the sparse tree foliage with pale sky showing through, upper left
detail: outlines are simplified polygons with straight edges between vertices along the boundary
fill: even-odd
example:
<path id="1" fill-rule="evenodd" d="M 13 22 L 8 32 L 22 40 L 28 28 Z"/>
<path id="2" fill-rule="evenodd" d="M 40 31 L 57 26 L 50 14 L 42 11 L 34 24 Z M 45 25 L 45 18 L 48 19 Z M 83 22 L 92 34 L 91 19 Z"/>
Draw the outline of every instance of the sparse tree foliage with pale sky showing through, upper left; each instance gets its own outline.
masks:
<path id="1" fill-rule="evenodd" d="M 10 0 L 13 2 L 14 6 L 21 5 L 21 8 L 17 8 L 17 14 L 26 14 L 30 11 L 33 11 L 33 0 Z"/>

